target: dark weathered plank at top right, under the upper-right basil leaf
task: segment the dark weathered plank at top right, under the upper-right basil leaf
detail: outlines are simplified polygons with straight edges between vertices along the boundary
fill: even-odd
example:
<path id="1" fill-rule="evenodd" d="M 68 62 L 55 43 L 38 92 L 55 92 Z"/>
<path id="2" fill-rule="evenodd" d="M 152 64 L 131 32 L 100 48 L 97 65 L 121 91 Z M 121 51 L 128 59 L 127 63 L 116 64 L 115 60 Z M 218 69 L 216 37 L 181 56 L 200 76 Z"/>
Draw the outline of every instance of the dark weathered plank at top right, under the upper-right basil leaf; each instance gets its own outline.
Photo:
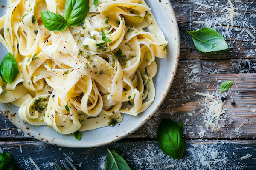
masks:
<path id="1" fill-rule="evenodd" d="M 230 27 L 228 31 L 227 20 L 225 12 L 221 12 L 227 3 L 223 0 L 170 0 L 174 7 L 177 21 L 180 29 L 180 59 L 231 59 L 231 58 L 255 58 L 254 49 L 256 46 L 252 45 L 253 38 L 248 36 L 247 32 L 239 34 L 243 28 L 247 28 L 254 36 L 256 32 L 250 26 L 250 24 L 256 28 L 256 17 L 252 14 L 256 14 L 256 3 L 253 0 L 243 0 L 241 2 L 233 2 L 235 10 L 238 15 L 234 17 L 235 26 Z M 195 4 L 195 2 L 203 3 L 205 5 L 212 6 L 212 8 L 205 8 Z M 198 13 L 194 11 L 203 11 L 205 13 Z M 222 18 L 218 21 L 221 26 L 216 23 L 218 18 Z M 204 24 L 193 24 L 193 21 L 204 21 Z M 246 24 L 244 24 L 244 22 Z M 216 23 L 216 25 L 215 25 Z M 187 33 L 189 31 L 195 31 L 203 27 L 210 27 L 218 31 L 225 37 L 229 45 L 229 49 L 216 52 L 216 53 L 202 53 L 198 51 L 193 45 L 192 37 Z M 237 35 L 239 34 L 239 36 Z"/>

